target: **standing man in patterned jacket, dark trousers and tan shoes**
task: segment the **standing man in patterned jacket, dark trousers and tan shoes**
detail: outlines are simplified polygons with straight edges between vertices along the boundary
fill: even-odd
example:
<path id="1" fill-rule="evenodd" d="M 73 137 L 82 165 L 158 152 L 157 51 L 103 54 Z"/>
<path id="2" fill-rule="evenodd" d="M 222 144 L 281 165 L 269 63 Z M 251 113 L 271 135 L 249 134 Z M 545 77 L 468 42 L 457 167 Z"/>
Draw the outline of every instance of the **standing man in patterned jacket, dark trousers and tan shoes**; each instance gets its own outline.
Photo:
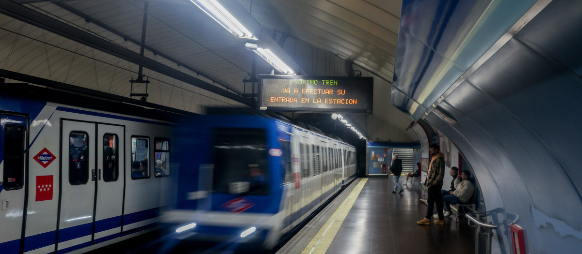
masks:
<path id="1" fill-rule="evenodd" d="M 435 219 L 435 224 L 445 224 L 441 200 L 441 188 L 445 177 L 445 156 L 441 153 L 441 147 L 438 144 L 431 144 L 428 152 L 431 155 L 431 163 L 428 167 L 427 180 L 424 182 L 424 185 L 428 188 L 427 216 L 416 223 L 430 225 L 434 204 L 437 203 L 438 219 Z"/>

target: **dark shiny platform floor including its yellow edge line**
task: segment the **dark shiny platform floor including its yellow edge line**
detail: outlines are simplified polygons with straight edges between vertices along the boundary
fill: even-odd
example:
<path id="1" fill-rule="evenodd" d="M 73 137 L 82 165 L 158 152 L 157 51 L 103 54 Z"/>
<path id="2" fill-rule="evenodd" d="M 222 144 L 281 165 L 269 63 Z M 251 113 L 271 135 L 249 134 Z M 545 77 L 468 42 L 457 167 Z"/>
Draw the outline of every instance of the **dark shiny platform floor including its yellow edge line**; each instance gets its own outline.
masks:
<path id="1" fill-rule="evenodd" d="M 404 177 L 404 176 L 402 176 Z M 401 177 L 401 179 L 402 179 Z M 418 225 L 427 212 L 420 184 L 392 193 L 392 177 L 354 180 L 276 253 L 474 253 L 466 219 Z"/>

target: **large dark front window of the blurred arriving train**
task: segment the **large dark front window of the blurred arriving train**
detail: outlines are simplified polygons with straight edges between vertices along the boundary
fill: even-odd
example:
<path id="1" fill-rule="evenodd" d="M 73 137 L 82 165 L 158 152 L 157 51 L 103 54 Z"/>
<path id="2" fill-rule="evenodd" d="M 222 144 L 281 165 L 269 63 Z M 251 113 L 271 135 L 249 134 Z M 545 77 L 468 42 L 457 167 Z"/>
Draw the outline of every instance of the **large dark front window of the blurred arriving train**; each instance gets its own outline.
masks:
<path id="1" fill-rule="evenodd" d="M 214 173 L 217 193 L 268 194 L 267 137 L 264 129 L 214 129 Z"/>

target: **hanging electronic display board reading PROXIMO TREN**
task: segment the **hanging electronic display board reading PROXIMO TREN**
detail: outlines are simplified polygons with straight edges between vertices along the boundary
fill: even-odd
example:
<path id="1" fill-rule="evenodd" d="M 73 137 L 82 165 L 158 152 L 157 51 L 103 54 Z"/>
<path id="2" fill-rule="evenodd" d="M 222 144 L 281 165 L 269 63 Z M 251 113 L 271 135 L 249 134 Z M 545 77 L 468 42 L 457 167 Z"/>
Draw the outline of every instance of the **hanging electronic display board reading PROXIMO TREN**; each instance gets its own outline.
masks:
<path id="1" fill-rule="evenodd" d="M 259 75 L 260 110 L 372 114 L 371 77 Z"/>

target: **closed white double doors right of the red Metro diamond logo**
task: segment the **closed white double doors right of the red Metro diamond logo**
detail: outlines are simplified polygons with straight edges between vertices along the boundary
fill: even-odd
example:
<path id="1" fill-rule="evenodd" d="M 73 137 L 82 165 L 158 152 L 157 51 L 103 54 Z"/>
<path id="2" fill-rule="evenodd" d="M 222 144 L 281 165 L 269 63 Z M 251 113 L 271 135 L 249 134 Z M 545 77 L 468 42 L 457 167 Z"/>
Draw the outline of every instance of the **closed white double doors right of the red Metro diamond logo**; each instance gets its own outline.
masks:
<path id="1" fill-rule="evenodd" d="M 122 126 L 62 120 L 58 251 L 72 251 L 119 235 L 123 199 L 119 165 L 123 164 L 112 159 L 114 153 L 118 156 L 115 161 L 123 159 L 119 158 L 123 153 L 118 152 L 123 149 L 122 135 Z M 111 150 L 104 146 L 106 136 Z M 109 155 L 107 161 L 104 155 Z M 109 162 L 116 172 L 107 172 L 104 177 L 104 164 L 109 166 Z"/>

